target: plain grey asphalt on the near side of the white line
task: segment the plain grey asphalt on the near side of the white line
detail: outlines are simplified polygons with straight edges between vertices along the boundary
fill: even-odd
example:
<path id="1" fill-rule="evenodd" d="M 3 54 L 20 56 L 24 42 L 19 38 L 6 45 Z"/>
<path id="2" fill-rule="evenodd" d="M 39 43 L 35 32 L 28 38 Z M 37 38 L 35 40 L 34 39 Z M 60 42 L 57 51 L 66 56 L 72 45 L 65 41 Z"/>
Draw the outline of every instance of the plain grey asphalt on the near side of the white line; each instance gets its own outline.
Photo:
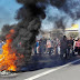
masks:
<path id="1" fill-rule="evenodd" d="M 80 64 L 64 67 L 36 80 L 80 80 Z"/>

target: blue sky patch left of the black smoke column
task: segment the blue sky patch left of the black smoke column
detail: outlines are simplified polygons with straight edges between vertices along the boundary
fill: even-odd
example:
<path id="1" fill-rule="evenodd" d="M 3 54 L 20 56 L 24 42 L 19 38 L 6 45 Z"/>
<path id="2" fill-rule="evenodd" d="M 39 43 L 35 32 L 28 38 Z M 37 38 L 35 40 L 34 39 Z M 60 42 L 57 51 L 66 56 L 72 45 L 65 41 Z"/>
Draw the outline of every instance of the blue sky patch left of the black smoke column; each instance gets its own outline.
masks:
<path id="1" fill-rule="evenodd" d="M 16 0 L 0 0 L 0 30 L 3 24 L 16 23 L 17 10 L 21 7 Z"/>

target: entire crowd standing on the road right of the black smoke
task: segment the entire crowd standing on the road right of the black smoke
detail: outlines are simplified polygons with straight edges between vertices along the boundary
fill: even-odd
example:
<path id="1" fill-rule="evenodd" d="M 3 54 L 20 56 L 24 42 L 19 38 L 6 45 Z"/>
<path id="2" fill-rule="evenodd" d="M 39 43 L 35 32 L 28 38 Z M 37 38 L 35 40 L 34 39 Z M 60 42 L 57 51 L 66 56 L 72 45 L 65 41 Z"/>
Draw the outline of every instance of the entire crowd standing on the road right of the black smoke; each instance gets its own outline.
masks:
<path id="1" fill-rule="evenodd" d="M 72 37 L 67 38 L 63 36 L 60 39 L 40 39 L 37 40 L 34 48 L 32 49 L 33 54 L 60 54 L 61 58 L 70 58 L 80 54 L 80 38 L 73 39 Z"/>

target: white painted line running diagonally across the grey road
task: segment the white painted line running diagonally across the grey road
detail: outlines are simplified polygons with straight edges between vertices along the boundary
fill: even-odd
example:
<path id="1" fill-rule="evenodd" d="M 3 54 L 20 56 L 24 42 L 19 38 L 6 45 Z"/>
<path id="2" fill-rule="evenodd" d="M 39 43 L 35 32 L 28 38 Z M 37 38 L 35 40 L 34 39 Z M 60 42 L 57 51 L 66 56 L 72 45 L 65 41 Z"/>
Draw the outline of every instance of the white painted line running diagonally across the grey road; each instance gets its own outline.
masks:
<path id="1" fill-rule="evenodd" d="M 32 76 L 32 77 L 30 77 L 30 78 L 28 78 L 28 79 L 24 79 L 24 80 L 34 80 L 34 79 L 37 79 L 37 78 L 43 77 L 43 76 L 46 76 L 46 74 L 48 74 L 48 73 L 51 73 L 51 72 L 53 72 L 53 71 L 57 71 L 57 70 L 59 70 L 59 69 L 62 69 L 62 68 L 64 68 L 64 67 L 67 67 L 67 66 L 70 66 L 70 64 L 72 64 L 72 63 L 76 63 L 76 62 L 78 62 L 78 61 L 80 61 L 80 59 L 74 60 L 74 61 L 72 61 L 72 62 L 69 62 L 69 63 L 67 63 L 67 64 L 64 64 L 64 66 L 58 67 L 58 68 L 56 68 L 56 69 L 50 69 L 50 70 L 48 70 L 48 71 L 44 71 L 44 72 L 41 72 L 41 73 L 39 73 L 39 74 Z"/>

